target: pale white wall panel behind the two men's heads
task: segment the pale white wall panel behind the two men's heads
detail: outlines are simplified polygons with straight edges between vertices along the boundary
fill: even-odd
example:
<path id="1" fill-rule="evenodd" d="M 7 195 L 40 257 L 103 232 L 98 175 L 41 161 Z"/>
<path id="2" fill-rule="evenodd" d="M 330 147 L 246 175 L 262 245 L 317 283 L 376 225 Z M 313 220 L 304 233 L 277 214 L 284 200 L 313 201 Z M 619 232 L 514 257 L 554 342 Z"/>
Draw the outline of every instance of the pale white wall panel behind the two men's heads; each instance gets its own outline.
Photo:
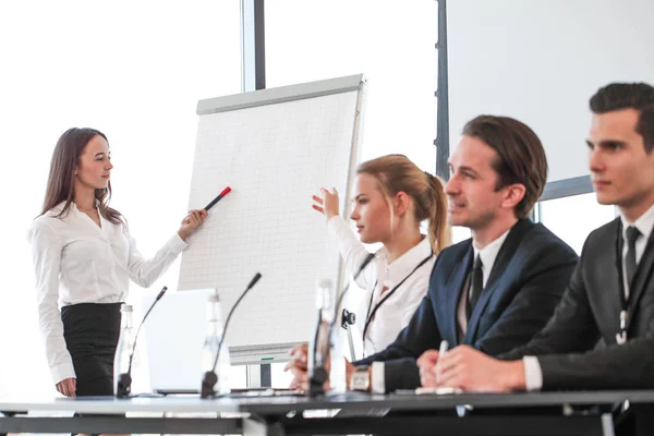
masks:
<path id="1" fill-rule="evenodd" d="M 549 181 L 588 174 L 589 98 L 617 81 L 654 83 L 652 0 L 447 3 L 450 147 L 480 113 L 530 125 Z"/>

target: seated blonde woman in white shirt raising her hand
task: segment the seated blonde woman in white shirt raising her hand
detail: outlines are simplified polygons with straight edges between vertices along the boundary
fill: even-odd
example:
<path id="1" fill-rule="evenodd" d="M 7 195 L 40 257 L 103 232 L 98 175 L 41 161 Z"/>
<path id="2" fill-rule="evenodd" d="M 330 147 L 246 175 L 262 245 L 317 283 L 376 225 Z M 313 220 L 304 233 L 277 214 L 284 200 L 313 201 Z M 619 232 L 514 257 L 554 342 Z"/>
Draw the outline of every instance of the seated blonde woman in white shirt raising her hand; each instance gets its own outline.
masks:
<path id="1" fill-rule="evenodd" d="M 402 155 L 365 161 L 356 169 L 350 219 L 360 240 L 339 215 L 339 198 L 320 189 L 314 209 L 325 214 L 347 268 L 355 274 L 368 256 L 363 243 L 382 242 L 356 284 L 365 289 L 356 315 L 363 320 L 364 356 L 379 352 L 407 327 L 427 292 L 440 251 L 450 244 L 447 197 L 440 180 Z M 428 220 L 428 235 L 420 225 Z M 365 316 L 365 317 L 364 317 Z"/>

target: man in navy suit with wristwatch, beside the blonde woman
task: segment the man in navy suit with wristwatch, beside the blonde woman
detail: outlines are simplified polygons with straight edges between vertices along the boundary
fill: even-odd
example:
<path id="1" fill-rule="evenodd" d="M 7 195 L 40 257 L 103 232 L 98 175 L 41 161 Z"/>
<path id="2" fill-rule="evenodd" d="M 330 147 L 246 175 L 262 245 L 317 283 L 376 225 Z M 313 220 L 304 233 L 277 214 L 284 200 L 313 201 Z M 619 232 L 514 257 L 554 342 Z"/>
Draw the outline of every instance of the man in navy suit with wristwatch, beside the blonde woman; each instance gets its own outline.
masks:
<path id="1" fill-rule="evenodd" d="M 526 343 L 552 316 L 577 264 L 574 252 L 526 217 L 547 179 L 536 134 L 523 123 L 482 116 L 470 121 L 450 158 L 448 219 L 472 239 L 445 249 L 409 326 L 386 350 L 347 364 L 352 388 L 420 386 L 415 360 L 441 340 L 492 355 Z M 287 365 L 307 387 L 306 346 Z M 356 368 L 356 370 L 355 370 Z"/>

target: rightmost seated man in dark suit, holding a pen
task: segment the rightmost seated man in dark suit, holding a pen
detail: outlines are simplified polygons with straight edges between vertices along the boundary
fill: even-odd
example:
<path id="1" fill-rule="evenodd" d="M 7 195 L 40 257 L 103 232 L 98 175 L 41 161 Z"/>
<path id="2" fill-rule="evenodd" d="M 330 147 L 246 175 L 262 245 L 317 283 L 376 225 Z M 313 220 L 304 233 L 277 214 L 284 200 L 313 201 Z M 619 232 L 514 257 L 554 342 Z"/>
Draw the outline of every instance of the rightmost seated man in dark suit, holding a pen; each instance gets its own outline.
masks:
<path id="1" fill-rule="evenodd" d="M 654 388 L 654 87 L 611 84 L 590 106 L 593 186 L 620 217 L 589 235 L 564 299 L 534 339 L 501 360 L 468 347 L 429 351 L 419 361 L 425 386 Z"/>

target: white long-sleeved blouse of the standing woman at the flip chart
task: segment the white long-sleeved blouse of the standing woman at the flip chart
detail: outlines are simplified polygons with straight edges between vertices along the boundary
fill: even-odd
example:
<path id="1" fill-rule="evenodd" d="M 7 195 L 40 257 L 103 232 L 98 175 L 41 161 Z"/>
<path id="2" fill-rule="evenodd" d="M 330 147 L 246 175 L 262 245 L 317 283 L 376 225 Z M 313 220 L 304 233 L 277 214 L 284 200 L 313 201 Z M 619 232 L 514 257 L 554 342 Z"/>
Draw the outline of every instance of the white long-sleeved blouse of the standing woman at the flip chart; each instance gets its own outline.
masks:
<path id="1" fill-rule="evenodd" d="M 63 338 L 61 307 L 122 302 L 128 296 L 130 279 L 149 287 L 186 247 L 175 233 L 152 259 L 144 259 L 123 225 L 113 225 L 100 215 L 98 227 L 75 203 L 71 203 L 64 217 L 56 218 L 62 208 L 63 203 L 36 218 L 27 232 L 38 323 L 56 384 L 75 377 Z"/>

